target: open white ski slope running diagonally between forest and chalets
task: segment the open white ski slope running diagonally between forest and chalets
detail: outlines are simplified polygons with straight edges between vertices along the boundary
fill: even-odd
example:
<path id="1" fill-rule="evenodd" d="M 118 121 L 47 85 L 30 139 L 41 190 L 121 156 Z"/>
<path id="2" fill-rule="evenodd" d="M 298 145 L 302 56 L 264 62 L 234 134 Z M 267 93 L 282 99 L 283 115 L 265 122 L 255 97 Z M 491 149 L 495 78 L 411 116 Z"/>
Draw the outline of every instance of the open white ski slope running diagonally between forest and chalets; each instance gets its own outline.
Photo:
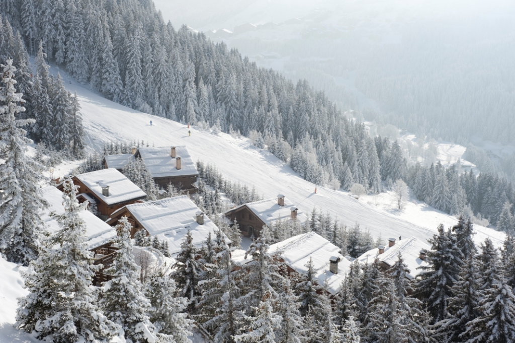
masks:
<path id="1" fill-rule="evenodd" d="M 52 68 L 52 73 L 57 70 Z M 151 116 L 106 100 L 87 87 L 76 83 L 60 71 L 71 92 L 77 91 L 87 144 L 99 149 L 103 141 L 143 140 L 155 146 L 186 145 L 194 160 L 215 165 L 234 183 L 255 186 L 264 198 L 284 194 L 305 213 L 316 207 L 337 217 L 340 223 L 359 223 L 376 237 L 416 236 L 426 240 L 436 233 L 436 225 L 454 225 L 456 218 L 422 203 L 413 203 L 402 213 L 378 207 L 367 198 L 356 200 L 348 192 L 317 187 L 305 181 L 284 162 L 268 151 L 258 149 L 246 138 L 234 138 L 220 133 L 213 135 L 196 128 L 188 129 L 161 117 Z M 152 121 L 152 126 L 150 126 Z M 188 136 L 191 130 L 191 136 Z M 55 175 L 59 176 L 59 175 Z M 387 194 L 379 196 L 384 198 Z M 488 236 L 496 246 L 501 246 L 505 234 L 475 225 L 476 243 Z"/>

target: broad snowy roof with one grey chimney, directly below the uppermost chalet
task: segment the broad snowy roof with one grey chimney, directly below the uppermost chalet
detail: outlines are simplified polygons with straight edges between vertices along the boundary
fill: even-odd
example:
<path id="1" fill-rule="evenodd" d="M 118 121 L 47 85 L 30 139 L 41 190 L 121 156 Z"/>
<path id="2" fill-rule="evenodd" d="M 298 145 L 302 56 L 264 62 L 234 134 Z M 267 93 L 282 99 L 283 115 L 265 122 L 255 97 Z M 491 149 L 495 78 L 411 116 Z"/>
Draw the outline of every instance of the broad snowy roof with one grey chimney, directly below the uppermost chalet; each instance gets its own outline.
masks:
<path id="1" fill-rule="evenodd" d="M 123 208 L 117 210 L 111 217 Z M 192 232 L 193 244 L 196 246 L 201 246 L 210 232 L 214 239 L 218 230 L 215 223 L 206 215 L 204 215 L 204 224 L 200 225 L 196 222 L 194 218 L 201 211 L 187 195 L 126 205 L 125 208 L 151 236 L 158 235 L 161 239 L 166 238 L 171 254 L 181 250 L 182 239 L 188 228 Z M 226 241 L 230 242 L 227 238 Z"/>

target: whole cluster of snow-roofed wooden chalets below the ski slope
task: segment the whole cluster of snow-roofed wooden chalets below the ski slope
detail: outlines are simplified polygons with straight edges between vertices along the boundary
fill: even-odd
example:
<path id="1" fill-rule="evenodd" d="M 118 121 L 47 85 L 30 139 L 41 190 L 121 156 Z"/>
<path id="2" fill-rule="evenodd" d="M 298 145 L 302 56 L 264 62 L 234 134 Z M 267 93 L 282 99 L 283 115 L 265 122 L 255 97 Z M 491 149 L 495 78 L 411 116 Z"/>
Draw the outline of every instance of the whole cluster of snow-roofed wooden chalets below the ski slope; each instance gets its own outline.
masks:
<path id="1" fill-rule="evenodd" d="M 158 200 L 147 200 L 147 194 L 126 177 L 122 170 L 135 159 L 141 159 L 158 185 Z M 64 213 L 62 205 L 63 183 L 71 178 L 79 187 L 77 199 L 88 202 L 88 210 L 81 217 L 87 228 L 89 249 L 94 252 L 95 264 L 103 267 L 97 271 L 94 284 L 110 280 L 105 270 L 112 264 L 117 248 L 113 244 L 116 237 L 115 226 L 127 217 L 131 224 L 131 238 L 147 237 L 162 242 L 162 251 L 174 257 L 181 251 L 181 243 L 188 231 L 193 244 L 198 248 L 206 243 L 208 236 L 215 236 L 218 226 L 192 201 L 197 196 L 199 172 L 188 153 L 186 146 L 133 147 L 129 154 L 106 155 L 101 160 L 103 169 L 78 175 L 65 175 L 55 179 L 55 186 L 44 188 L 44 198 L 49 202 L 50 213 Z M 179 192 L 176 197 L 167 197 L 169 185 Z M 281 221 L 306 224 L 308 216 L 283 194 L 271 199 L 259 200 L 233 206 L 219 217 L 229 224 L 237 223 L 242 239 L 250 242 L 260 237 L 265 227 Z M 46 221 L 50 232 L 57 231 L 57 222 L 49 215 Z M 395 233 L 390 233 L 395 236 Z M 228 237 L 226 242 L 231 245 Z M 245 245 L 244 242 L 242 245 Z M 248 244 L 247 244 L 248 246 Z M 413 280 L 419 273 L 418 267 L 424 262 L 425 251 L 430 246 L 416 237 L 389 238 L 388 246 L 377 246 L 357 258 L 344 256 L 340 248 L 315 232 L 306 232 L 271 244 L 270 253 L 275 254 L 287 266 L 287 273 L 307 273 L 307 262 L 311 260 L 316 270 L 315 279 L 319 285 L 325 284 L 327 291 L 335 295 L 351 269 L 354 259 L 362 266 L 379 263 L 385 271 L 397 262 L 402 253 L 409 272 L 406 277 Z M 161 249 L 162 250 L 162 249 Z M 245 250 L 233 249 L 235 265 L 248 263 Z"/>

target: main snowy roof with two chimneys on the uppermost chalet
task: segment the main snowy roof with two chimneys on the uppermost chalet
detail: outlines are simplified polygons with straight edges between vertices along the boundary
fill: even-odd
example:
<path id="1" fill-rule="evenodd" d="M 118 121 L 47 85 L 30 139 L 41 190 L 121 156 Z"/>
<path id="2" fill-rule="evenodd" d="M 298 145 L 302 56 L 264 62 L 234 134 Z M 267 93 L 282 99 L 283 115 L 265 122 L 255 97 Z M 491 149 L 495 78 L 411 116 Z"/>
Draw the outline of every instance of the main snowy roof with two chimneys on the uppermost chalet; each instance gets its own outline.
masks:
<path id="1" fill-rule="evenodd" d="M 181 157 L 181 169 L 176 168 L 176 159 L 170 156 L 170 146 L 139 148 L 138 152 L 152 177 L 198 175 L 195 162 L 186 146 L 176 146 L 176 156 Z M 136 153 L 138 154 L 138 153 Z"/>

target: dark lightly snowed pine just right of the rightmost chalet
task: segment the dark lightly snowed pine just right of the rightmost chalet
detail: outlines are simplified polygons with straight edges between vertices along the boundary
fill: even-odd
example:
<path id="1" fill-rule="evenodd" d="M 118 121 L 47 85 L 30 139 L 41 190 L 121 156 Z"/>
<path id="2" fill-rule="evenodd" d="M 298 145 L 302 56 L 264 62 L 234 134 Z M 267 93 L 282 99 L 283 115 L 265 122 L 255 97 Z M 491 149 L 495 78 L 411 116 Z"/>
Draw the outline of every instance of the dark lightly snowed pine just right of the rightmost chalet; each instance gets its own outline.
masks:
<path id="1" fill-rule="evenodd" d="M 462 265 L 462 254 L 451 230 L 445 231 L 442 224 L 437 230 L 438 235 L 428 240 L 431 250 L 426 252 L 425 260 L 429 265 L 419 267 L 422 271 L 415 286 L 415 293 L 424 299 L 435 322 L 447 316 L 447 301 L 453 295 L 451 288 Z"/>

